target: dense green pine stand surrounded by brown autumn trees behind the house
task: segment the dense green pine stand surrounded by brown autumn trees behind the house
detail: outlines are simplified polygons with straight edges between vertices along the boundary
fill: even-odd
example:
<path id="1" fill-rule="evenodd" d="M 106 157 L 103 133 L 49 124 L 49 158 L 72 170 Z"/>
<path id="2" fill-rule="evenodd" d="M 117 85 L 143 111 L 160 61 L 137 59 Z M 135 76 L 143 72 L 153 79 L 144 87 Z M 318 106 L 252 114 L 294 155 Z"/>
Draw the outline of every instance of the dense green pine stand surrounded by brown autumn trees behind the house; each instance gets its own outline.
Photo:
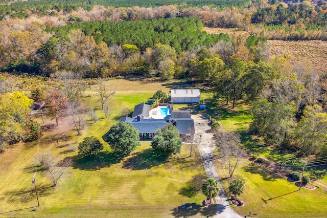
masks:
<path id="1" fill-rule="evenodd" d="M 156 43 L 170 45 L 180 53 L 184 50 L 192 50 L 195 46 L 212 46 L 220 38 L 228 37 L 223 34 L 220 36 L 206 34 L 201 20 L 195 18 L 161 18 L 119 23 L 89 21 L 51 28 L 49 32 L 67 35 L 72 29 L 80 29 L 85 35 L 93 36 L 96 43 L 104 41 L 108 46 L 136 45 L 142 53 L 146 48 L 153 48 Z"/>

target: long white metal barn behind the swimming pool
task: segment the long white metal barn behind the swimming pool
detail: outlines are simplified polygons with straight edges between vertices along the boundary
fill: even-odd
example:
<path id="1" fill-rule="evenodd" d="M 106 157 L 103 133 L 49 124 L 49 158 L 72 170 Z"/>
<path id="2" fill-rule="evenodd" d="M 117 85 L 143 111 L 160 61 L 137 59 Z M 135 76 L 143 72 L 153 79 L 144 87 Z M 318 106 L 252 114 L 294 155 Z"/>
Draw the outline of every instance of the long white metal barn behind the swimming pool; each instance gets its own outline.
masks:
<path id="1" fill-rule="evenodd" d="M 200 90 L 171 90 L 172 103 L 200 103 Z"/>

